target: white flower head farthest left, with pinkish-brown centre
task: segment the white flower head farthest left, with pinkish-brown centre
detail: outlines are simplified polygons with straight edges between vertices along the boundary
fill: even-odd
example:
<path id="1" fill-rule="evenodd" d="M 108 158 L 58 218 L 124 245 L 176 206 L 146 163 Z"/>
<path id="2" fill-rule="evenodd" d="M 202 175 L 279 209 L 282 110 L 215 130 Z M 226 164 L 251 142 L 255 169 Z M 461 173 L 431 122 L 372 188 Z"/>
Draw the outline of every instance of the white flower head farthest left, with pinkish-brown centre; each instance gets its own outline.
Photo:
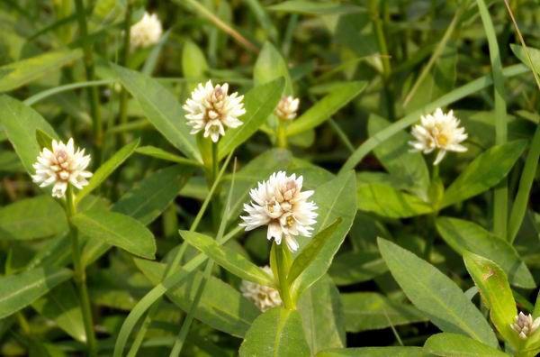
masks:
<path id="1" fill-rule="evenodd" d="M 86 171 L 90 163 L 90 155 L 85 155 L 85 149 L 76 149 L 73 139 L 64 142 L 52 141 L 52 151 L 43 148 L 38 160 L 33 164 L 36 174 L 31 178 L 40 188 L 53 185 L 52 196 L 64 197 L 67 185 L 78 189 L 88 185 L 86 178 L 92 177 L 92 172 Z"/>

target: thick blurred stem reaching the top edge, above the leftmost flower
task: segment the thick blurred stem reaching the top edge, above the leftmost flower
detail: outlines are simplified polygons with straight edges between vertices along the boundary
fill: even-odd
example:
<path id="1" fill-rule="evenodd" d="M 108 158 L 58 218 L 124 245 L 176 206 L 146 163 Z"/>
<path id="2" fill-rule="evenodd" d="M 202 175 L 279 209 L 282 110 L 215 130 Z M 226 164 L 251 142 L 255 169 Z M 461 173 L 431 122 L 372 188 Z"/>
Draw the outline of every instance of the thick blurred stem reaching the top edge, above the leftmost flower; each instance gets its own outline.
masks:
<path id="1" fill-rule="evenodd" d="M 75 0 L 76 16 L 79 26 L 79 35 L 83 38 L 83 51 L 86 81 L 94 80 L 94 55 L 92 53 L 92 44 L 88 40 L 88 25 L 86 23 L 85 5 L 83 0 Z M 103 146 L 103 122 L 99 106 L 99 95 L 97 87 L 88 88 L 88 102 L 90 104 L 90 115 L 92 116 L 94 131 L 94 160 L 96 166 L 99 166 L 102 160 Z"/>

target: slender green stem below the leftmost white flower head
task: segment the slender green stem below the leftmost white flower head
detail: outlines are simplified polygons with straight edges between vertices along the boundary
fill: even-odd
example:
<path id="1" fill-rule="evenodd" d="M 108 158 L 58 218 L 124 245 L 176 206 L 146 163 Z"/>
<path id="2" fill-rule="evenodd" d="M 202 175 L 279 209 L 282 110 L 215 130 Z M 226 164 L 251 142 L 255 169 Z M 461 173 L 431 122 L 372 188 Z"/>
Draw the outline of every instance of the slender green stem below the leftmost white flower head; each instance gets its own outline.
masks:
<path id="1" fill-rule="evenodd" d="M 71 236 L 71 254 L 73 258 L 74 279 L 78 289 L 81 310 L 83 313 L 83 322 L 85 324 L 86 345 L 88 355 L 97 355 L 97 345 L 94 335 L 94 323 L 92 321 L 92 308 L 90 307 L 90 298 L 88 298 L 88 288 L 86 287 L 86 272 L 81 264 L 81 254 L 78 246 L 78 233 L 75 225 L 71 223 L 71 217 L 76 214 L 75 197 L 71 186 L 67 187 L 67 218 L 69 221 L 69 233 Z"/>

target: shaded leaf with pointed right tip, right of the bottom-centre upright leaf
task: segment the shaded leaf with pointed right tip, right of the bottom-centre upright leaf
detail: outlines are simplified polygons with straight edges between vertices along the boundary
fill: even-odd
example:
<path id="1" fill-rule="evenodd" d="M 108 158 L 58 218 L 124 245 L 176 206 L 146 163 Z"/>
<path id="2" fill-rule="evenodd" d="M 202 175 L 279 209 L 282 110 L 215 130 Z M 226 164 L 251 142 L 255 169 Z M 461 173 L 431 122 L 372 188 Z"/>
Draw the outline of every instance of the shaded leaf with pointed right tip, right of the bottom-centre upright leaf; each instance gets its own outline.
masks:
<path id="1" fill-rule="evenodd" d="M 416 307 L 374 292 L 341 294 L 341 301 L 347 332 L 380 330 L 428 320 Z"/>

